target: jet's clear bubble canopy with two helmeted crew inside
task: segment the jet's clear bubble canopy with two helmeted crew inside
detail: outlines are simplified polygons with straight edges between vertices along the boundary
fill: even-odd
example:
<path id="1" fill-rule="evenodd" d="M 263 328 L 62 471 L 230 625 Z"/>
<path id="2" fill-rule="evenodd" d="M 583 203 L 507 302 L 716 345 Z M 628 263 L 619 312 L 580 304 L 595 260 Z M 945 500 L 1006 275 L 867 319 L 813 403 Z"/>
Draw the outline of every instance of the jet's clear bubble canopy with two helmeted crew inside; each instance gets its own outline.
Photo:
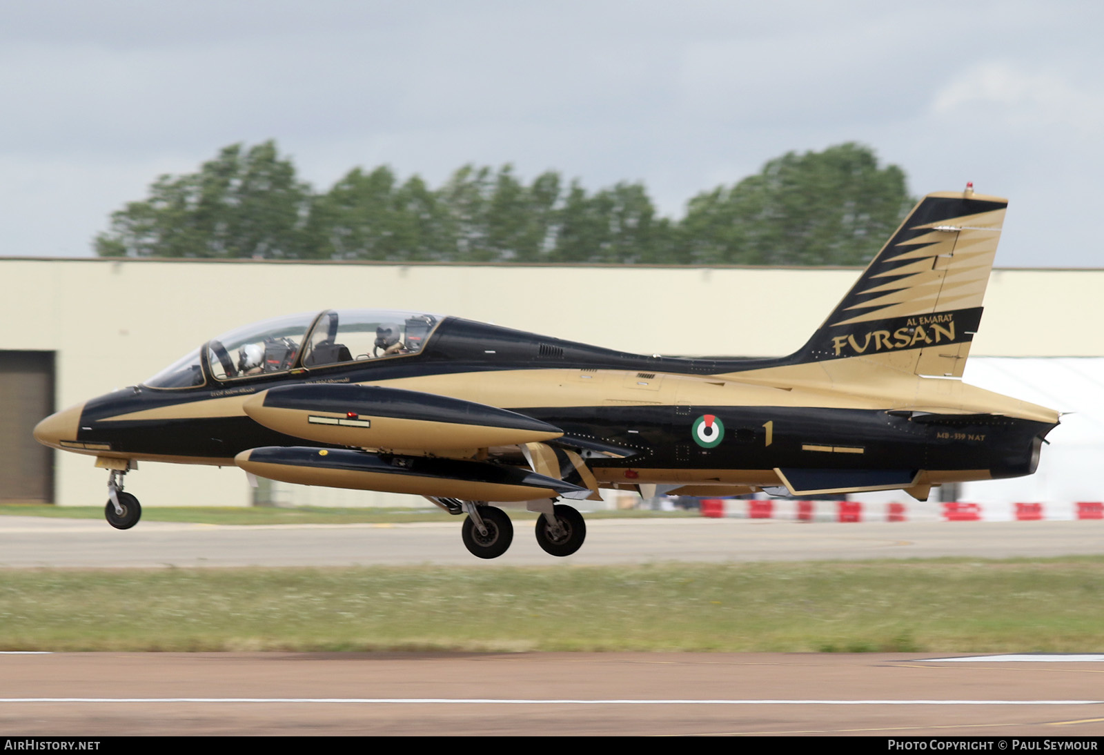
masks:
<path id="1" fill-rule="evenodd" d="M 327 309 L 255 322 L 211 339 L 142 384 L 203 385 L 254 375 L 420 353 L 437 315 L 381 309 Z"/>

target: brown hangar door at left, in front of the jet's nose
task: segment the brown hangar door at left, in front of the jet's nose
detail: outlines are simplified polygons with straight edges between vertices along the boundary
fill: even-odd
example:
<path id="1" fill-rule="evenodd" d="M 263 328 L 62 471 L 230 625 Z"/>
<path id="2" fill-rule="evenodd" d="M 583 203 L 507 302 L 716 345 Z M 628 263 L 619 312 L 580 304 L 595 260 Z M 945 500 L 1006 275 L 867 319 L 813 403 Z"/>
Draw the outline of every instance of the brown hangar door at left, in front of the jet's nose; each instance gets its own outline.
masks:
<path id="1" fill-rule="evenodd" d="M 54 451 L 31 435 L 53 411 L 54 352 L 0 351 L 0 501 L 53 501 Z"/>

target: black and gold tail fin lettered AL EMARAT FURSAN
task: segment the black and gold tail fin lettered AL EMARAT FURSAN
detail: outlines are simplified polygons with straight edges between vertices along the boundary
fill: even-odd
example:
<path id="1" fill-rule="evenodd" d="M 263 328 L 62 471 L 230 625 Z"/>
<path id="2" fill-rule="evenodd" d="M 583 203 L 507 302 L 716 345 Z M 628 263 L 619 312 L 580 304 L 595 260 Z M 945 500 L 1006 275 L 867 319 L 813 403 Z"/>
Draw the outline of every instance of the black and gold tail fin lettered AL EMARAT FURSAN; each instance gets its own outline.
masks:
<path id="1" fill-rule="evenodd" d="M 790 363 L 962 378 L 1007 205 L 972 189 L 922 199 Z"/>

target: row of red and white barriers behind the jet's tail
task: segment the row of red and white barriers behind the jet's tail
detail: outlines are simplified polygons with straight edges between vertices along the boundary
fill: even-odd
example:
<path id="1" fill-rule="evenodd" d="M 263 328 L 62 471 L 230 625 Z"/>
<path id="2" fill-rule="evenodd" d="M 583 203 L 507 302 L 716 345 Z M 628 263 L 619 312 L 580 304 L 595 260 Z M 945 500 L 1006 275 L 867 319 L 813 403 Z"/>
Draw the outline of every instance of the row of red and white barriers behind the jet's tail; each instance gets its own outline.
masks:
<path id="1" fill-rule="evenodd" d="M 707 498 L 701 515 L 737 519 L 782 519 L 802 522 L 1031 522 L 1104 519 L 1104 501 L 1073 503 L 974 503 L 968 501 L 913 501 L 867 503 L 862 501 L 793 501 L 784 499 L 734 500 Z"/>

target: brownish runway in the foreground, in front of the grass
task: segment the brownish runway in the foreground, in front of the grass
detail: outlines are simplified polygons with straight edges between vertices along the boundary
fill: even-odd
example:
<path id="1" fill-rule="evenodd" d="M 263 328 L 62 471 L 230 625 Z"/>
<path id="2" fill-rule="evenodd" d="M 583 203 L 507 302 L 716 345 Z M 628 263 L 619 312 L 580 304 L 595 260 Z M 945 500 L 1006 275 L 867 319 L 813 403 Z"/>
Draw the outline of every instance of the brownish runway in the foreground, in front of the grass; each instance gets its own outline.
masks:
<path id="1" fill-rule="evenodd" d="M 0 731 L 201 735 L 1104 734 L 1104 662 L 917 655 L 0 656 Z"/>

